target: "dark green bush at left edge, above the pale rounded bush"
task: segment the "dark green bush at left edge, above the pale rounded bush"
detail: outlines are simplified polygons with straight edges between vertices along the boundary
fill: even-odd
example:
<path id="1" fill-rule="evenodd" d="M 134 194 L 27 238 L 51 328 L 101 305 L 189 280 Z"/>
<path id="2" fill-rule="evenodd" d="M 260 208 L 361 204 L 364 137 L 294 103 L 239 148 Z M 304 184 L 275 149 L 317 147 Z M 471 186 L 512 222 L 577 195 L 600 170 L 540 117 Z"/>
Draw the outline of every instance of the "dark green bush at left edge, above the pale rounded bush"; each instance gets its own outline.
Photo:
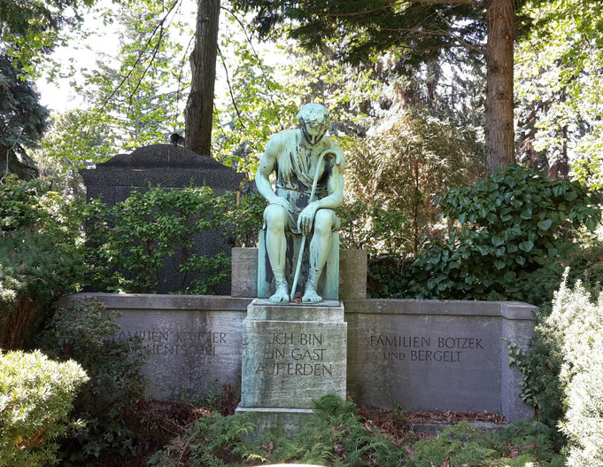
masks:
<path id="1" fill-rule="evenodd" d="M 0 183 L 0 347 L 23 348 L 84 281 L 82 204 L 40 180 Z"/>

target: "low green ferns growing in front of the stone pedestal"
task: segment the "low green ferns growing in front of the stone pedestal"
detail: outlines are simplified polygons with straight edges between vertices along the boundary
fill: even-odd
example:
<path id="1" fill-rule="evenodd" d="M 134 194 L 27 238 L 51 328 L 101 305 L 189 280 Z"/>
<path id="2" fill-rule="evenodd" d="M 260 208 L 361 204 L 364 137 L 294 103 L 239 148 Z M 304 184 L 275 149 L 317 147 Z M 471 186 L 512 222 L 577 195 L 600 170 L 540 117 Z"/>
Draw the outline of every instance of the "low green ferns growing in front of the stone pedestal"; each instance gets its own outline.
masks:
<path id="1" fill-rule="evenodd" d="M 253 442 L 253 414 L 220 416 L 210 413 L 182 436 L 152 456 L 149 465 L 224 466 L 258 463 L 305 463 L 332 466 L 408 467 L 561 467 L 553 449 L 553 430 L 531 420 L 509 424 L 504 432 L 485 432 L 461 422 L 437 437 L 416 440 L 413 433 L 392 438 L 400 427 L 365 420 L 351 402 L 335 394 L 314 401 L 315 413 L 300 432 L 286 439 L 266 432 Z M 386 432 L 387 430 L 387 432 Z"/>

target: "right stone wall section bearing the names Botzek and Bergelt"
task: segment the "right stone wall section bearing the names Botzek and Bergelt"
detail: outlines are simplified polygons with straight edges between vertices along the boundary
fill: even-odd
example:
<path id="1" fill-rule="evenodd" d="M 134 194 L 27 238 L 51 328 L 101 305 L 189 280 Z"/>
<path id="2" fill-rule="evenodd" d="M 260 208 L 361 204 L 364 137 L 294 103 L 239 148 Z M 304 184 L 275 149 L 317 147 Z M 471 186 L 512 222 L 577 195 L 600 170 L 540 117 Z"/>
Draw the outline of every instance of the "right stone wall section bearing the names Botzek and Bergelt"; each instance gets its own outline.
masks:
<path id="1" fill-rule="evenodd" d="M 534 330 L 526 304 L 347 300 L 348 390 L 354 401 L 405 410 L 487 410 L 509 421 L 533 415 L 519 399 L 508 339 Z M 519 339 L 521 337 L 521 339 Z"/>

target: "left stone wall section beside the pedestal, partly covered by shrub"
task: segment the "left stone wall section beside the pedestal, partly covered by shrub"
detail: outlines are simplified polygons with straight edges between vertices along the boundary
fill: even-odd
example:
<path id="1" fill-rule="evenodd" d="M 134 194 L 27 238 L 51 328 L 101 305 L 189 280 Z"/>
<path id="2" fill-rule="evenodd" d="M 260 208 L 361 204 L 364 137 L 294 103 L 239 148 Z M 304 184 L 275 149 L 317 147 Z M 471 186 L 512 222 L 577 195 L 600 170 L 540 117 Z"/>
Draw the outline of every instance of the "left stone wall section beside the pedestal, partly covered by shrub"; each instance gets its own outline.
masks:
<path id="1" fill-rule="evenodd" d="M 146 348 L 146 395 L 168 401 L 200 401 L 214 381 L 241 376 L 241 324 L 245 301 L 228 297 L 78 293 L 119 310 L 116 338 L 140 336 Z M 63 299 L 62 307 L 72 300 Z"/>

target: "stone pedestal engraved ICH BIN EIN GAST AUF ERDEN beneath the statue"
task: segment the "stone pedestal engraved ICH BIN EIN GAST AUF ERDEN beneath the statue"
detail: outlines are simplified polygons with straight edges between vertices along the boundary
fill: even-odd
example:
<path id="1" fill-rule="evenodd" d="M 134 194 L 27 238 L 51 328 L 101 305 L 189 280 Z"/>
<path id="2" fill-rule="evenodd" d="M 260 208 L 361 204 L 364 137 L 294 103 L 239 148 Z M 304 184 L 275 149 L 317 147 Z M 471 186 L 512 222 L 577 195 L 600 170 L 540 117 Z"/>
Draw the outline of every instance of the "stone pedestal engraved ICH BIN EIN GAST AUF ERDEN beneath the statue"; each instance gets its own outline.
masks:
<path id="1" fill-rule="evenodd" d="M 344 306 L 253 300 L 243 322 L 241 404 L 256 412 L 259 430 L 298 431 L 313 400 L 328 393 L 345 399 L 347 323 Z"/>

